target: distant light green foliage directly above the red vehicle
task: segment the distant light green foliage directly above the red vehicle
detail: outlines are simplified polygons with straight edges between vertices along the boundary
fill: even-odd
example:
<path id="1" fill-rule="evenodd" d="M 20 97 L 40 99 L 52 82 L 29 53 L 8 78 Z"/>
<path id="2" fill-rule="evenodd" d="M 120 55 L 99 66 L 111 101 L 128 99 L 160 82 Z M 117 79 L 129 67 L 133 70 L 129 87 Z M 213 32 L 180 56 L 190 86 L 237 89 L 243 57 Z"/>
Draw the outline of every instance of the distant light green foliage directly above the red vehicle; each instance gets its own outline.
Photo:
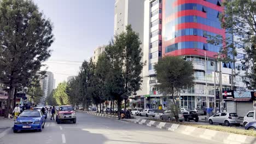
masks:
<path id="1" fill-rule="evenodd" d="M 68 105 L 69 103 L 69 97 L 66 92 L 67 89 L 67 83 L 61 82 L 55 89 L 53 93 L 53 98 L 56 100 L 57 105 Z"/>

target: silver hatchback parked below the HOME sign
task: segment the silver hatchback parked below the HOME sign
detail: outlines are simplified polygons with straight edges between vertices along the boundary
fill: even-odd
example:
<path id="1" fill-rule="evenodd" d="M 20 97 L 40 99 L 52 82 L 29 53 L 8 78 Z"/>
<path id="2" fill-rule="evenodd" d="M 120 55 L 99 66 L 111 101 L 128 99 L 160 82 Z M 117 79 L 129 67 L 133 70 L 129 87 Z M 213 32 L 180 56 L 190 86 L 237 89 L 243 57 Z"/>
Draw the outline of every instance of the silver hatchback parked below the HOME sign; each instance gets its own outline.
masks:
<path id="1" fill-rule="evenodd" d="M 229 126 L 230 124 L 240 125 L 239 117 L 236 113 L 229 113 L 229 112 L 219 112 L 215 115 L 208 118 L 208 122 L 210 124 L 218 123 L 218 124 L 225 124 Z"/>

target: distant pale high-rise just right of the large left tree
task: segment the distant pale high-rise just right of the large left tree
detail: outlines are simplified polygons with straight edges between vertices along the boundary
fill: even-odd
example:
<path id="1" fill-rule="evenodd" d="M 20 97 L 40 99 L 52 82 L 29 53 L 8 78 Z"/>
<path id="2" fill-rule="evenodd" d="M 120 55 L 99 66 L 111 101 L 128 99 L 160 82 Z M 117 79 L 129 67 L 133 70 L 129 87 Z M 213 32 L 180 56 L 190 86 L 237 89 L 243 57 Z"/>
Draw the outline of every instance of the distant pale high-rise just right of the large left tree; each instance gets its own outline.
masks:
<path id="1" fill-rule="evenodd" d="M 44 92 L 44 98 L 50 95 L 54 88 L 54 74 L 50 71 L 46 71 L 46 77 L 41 81 L 41 87 Z"/>

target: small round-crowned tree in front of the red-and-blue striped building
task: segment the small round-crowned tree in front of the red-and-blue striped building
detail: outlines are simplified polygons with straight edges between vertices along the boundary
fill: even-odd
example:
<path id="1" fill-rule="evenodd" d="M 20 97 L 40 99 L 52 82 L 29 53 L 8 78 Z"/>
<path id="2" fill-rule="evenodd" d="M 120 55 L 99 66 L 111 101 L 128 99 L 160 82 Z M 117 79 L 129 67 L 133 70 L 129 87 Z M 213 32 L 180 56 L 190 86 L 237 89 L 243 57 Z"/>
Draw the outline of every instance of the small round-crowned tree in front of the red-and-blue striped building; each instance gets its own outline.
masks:
<path id="1" fill-rule="evenodd" d="M 181 57 L 166 56 L 155 64 L 156 79 L 160 83 L 157 87 L 163 95 L 171 96 L 172 111 L 178 121 L 178 109 L 174 99 L 174 93 L 194 85 L 193 64 Z"/>

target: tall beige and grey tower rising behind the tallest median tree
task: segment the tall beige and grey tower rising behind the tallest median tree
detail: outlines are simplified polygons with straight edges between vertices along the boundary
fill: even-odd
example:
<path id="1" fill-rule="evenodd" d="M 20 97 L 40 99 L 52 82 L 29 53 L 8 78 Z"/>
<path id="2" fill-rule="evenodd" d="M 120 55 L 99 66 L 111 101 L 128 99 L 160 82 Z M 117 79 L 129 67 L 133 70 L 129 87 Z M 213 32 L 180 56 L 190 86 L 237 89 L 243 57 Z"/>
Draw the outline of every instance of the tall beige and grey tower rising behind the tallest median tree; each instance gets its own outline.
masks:
<path id="1" fill-rule="evenodd" d="M 120 34 L 125 31 L 125 27 L 131 25 L 132 30 L 139 34 L 141 40 L 141 47 L 143 49 L 144 43 L 144 1 L 143 0 L 115 0 L 114 10 L 114 34 Z M 144 52 L 144 51 L 142 51 Z M 147 62 L 148 56 L 143 55 L 142 62 Z M 149 94 L 148 91 L 148 68 L 144 67 L 142 73 L 143 77 L 142 89 L 137 92 L 137 95 Z M 144 104 L 144 102 L 143 102 Z"/>

